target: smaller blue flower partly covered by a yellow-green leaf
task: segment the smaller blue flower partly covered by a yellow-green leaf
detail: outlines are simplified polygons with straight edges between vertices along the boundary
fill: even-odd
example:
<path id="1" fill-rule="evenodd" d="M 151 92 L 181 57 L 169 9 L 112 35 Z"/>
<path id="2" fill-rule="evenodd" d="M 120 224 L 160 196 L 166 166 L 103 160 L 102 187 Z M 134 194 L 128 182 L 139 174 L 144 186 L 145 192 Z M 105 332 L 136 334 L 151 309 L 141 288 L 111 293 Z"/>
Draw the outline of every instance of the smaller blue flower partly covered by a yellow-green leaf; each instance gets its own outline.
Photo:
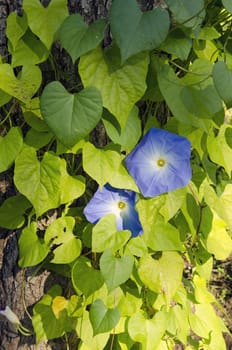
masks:
<path id="1" fill-rule="evenodd" d="M 117 229 L 130 230 L 133 237 L 142 233 L 135 209 L 136 193 L 105 185 L 98 189 L 84 209 L 86 218 L 96 223 L 107 214 L 115 214 Z"/>

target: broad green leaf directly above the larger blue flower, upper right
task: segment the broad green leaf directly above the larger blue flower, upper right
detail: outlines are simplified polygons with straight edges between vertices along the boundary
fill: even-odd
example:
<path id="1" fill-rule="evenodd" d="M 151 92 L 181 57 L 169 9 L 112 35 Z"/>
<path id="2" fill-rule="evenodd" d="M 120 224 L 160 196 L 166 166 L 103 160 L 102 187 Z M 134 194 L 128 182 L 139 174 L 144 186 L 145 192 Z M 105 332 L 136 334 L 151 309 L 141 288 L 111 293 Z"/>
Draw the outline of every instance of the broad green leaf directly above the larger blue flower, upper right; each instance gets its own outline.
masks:
<path id="1" fill-rule="evenodd" d="M 196 70 L 198 81 L 193 80 L 191 73 L 179 79 L 171 67 L 162 65 L 158 72 L 158 82 L 169 108 L 180 122 L 207 130 L 207 119 L 222 112 L 222 103 L 212 79 L 207 77 L 208 71 L 205 76 L 202 73 L 199 81 L 199 63 L 195 63 L 192 74 L 194 76 Z"/>

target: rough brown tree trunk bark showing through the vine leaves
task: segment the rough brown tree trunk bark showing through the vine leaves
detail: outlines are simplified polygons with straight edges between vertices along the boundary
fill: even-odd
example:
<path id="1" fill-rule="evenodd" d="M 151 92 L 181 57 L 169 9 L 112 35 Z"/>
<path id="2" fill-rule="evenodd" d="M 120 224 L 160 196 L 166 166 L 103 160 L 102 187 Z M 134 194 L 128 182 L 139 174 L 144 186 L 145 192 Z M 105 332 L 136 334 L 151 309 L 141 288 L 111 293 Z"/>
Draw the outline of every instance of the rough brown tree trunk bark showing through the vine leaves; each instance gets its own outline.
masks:
<path id="1" fill-rule="evenodd" d="M 46 6 L 49 1 L 42 1 Z M 162 0 L 140 0 L 139 4 L 143 10 L 151 9 L 154 4 L 160 5 Z M 68 6 L 70 13 L 80 13 L 87 23 L 91 23 L 98 18 L 106 18 L 111 1 L 107 0 L 69 0 Z M 7 57 L 7 39 L 5 35 L 6 31 L 6 18 L 12 12 L 16 11 L 19 15 L 22 14 L 22 1 L 21 0 L 0 0 L 0 55 Z M 106 38 L 107 41 L 107 38 Z M 107 42 L 106 42 L 107 44 Z M 65 70 L 73 70 L 73 65 L 68 57 L 64 57 L 64 53 L 61 50 L 54 47 L 54 54 L 56 55 L 56 62 Z M 41 65 L 42 69 L 44 68 Z M 20 113 L 16 111 L 15 113 Z M 15 119 L 20 118 L 20 115 L 16 115 Z M 1 122 L 1 113 L 0 113 Z M 5 131 L 1 130 L 0 135 L 4 135 Z M 95 143 L 99 146 L 105 144 L 105 133 L 102 125 L 96 128 L 94 133 Z M 13 170 L 0 174 L 0 205 L 9 196 L 15 195 L 17 190 L 13 184 Z M 42 271 L 39 274 L 35 273 L 32 268 L 21 270 L 18 267 L 18 238 L 20 230 L 10 231 L 0 228 L 0 308 L 4 308 L 8 305 L 22 321 L 23 325 L 32 329 L 30 318 L 27 315 L 32 311 L 33 305 L 43 296 L 44 292 L 51 284 L 55 283 L 56 279 L 59 281 L 58 276 L 54 276 L 48 271 Z M 60 281 L 59 281 L 60 283 Z M 16 329 L 6 321 L 6 319 L 0 316 L 0 349 L 6 350 L 63 350 L 66 349 L 66 345 L 62 343 L 62 340 L 58 342 L 52 341 L 42 342 L 40 345 L 35 345 L 35 337 L 20 336 Z"/>

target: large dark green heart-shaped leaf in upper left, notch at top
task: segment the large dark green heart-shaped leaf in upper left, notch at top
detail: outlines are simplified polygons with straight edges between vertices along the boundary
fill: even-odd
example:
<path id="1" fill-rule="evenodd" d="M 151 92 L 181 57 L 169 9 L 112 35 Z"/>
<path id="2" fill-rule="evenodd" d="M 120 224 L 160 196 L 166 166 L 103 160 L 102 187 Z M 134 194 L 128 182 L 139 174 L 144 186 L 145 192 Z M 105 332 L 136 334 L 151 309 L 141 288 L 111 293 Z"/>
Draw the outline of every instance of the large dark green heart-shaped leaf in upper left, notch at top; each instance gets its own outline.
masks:
<path id="1" fill-rule="evenodd" d="M 101 95 L 94 87 L 70 94 L 61 83 L 52 82 L 45 87 L 41 96 L 41 112 L 57 139 L 71 147 L 99 122 Z"/>

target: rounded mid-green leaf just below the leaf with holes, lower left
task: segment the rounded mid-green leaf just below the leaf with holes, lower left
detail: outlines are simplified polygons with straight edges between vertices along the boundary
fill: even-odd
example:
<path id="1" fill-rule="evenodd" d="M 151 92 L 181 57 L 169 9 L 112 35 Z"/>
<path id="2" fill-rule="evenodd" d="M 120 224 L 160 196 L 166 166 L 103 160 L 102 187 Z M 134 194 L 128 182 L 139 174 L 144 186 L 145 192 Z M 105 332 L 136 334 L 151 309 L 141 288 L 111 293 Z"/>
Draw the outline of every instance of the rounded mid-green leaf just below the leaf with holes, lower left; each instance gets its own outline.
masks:
<path id="1" fill-rule="evenodd" d="M 83 257 L 79 258 L 72 267 L 72 283 L 77 293 L 81 291 L 89 297 L 104 284 L 99 270 L 91 266 L 91 262 Z"/>

